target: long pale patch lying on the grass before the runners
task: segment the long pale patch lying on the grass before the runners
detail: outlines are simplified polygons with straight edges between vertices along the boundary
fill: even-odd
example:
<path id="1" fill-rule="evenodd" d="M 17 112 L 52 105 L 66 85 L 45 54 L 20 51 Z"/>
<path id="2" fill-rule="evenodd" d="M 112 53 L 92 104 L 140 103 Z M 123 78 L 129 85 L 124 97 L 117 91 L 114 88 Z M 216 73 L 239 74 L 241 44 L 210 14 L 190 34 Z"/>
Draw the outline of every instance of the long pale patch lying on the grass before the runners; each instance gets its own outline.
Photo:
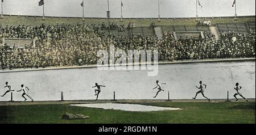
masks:
<path id="1" fill-rule="evenodd" d="M 171 108 L 171 107 L 145 106 L 141 104 L 117 104 L 117 103 L 71 104 L 71 106 L 103 108 L 103 109 L 119 109 L 122 111 L 134 111 L 134 112 L 170 111 L 170 110 L 180 109 L 180 108 Z"/>

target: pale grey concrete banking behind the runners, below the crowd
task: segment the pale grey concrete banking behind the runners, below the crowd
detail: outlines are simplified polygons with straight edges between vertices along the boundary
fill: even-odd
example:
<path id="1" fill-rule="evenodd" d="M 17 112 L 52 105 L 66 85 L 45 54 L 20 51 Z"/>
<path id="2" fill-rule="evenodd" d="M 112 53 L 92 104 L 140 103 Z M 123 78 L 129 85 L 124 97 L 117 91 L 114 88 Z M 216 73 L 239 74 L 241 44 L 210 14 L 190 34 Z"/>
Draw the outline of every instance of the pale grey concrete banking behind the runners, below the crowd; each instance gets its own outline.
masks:
<path id="1" fill-rule="evenodd" d="M 117 71 L 97 68 L 0 72 L 0 94 L 8 81 L 14 90 L 24 84 L 30 88 L 35 100 L 60 100 L 60 91 L 64 91 L 64 100 L 95 99 L 95 82 L 102 87 L 99 99 L 153 99 L 159 79 L 164 90 L 156 99 L 167 99 L 170 91 L 172 99 L 191 99 L 195 96 L 199 81 L 207 85 L 205 95 L 211 99 L 230 98 L 234 94 L 234 85 L 240 82 L 241 92 L 247 98 L 255 98 L 255 60 L 245 62 L 209 62 L 195 64 L 159 65 L 156 77 L 148 77 L 146 70 Z M 22 92 L 14 92 L 14 100 L 23 100 Z M 198 98 L 202 98 L 201 95 Z M 0 97 L 0 101 L 10 100 L 10 94 Z"/>

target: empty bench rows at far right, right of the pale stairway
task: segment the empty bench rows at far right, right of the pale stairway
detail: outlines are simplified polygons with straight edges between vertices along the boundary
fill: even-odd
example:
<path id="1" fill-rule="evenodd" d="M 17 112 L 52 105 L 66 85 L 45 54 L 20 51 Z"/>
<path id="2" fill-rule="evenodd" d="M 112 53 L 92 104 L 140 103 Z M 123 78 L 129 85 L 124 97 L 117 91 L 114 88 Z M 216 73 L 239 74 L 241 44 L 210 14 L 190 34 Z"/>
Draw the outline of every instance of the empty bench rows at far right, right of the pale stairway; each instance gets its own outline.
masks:
<path id="1" fill-rule="evenodd" d="M 248 33 L 250 30 L 255 32 L 255 22 L 246 23 L 217 23 L 218 32 Z"/>

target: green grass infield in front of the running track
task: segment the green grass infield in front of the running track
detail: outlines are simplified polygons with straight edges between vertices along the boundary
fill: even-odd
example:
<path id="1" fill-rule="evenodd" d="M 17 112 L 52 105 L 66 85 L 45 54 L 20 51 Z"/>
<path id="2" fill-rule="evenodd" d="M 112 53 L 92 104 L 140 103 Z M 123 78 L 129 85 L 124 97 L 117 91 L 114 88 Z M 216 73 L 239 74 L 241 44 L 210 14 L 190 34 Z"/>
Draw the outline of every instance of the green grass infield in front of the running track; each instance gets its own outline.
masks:
<path id="1" fill-rule="evenodd" d="M 122 102 L 127 103 L 127 102 Z M 0 106 L 0 123 L 81 123 L 81 124 L 255 124 L 255 102 L 154 102 L 143 104 L 182 110 L 127 112 L 86 108 L 69 104 Z M 90 119 L 63 120 L 64 112 L 87 115 Z"/>

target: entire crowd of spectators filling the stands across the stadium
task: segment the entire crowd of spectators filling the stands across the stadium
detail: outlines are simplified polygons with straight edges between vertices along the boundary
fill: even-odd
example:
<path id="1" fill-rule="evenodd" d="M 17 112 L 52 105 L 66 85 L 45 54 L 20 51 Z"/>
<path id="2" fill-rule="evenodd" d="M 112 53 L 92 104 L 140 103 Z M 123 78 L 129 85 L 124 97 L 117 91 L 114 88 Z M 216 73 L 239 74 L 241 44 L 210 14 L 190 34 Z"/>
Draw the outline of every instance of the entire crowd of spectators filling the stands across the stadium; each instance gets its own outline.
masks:
<path id="1" fill-rule="evenodd" d="M 104 23 L 0 26 L 0 44 L 3 38 L 36 39 L 35 47 L 10 48 L 0 45 L 0 69 L 97 64 L 98 50 L 108 50 L 109 43 L 115 49 L 125 51 L 158 50 L 159 61 L 255 56 L 255 32 L 222 32 L 218 41 L 210 32 L 204 32 L 204 38 L 175 40 L 172 32 L 164 32 L 163 39 L 134 35 L 112 36 L 109 41 L 109 38 L 102 36 L 104 28 Z"/>

